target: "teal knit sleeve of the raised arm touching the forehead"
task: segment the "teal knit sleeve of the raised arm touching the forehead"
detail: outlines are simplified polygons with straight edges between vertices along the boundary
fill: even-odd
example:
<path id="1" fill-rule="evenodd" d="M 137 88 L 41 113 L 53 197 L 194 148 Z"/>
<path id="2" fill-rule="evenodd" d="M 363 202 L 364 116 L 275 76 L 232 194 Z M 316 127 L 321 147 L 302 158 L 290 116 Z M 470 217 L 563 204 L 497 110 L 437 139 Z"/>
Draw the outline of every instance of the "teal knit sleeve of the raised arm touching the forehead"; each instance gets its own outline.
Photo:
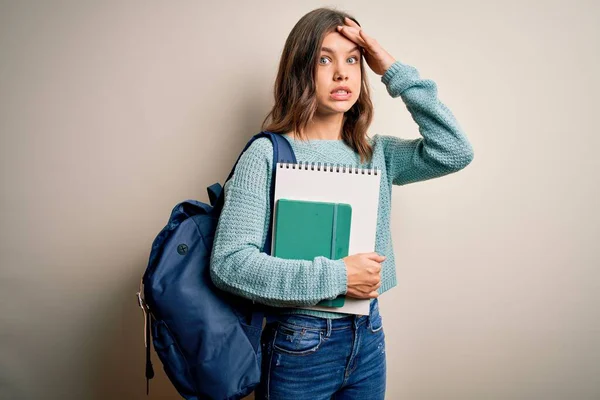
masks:
<path id="1" fill-rule="evenodd" d="M 473 148 L 452 112 L 438 99 L 434 81 L 420 79 L 415 67 L 400 61 L 385 71 L 381 81 L 392 97 L 402 98 L 422 136 L 380 136 L 392 184 L 437 178 L 461 170 L 473 160 Z"/>

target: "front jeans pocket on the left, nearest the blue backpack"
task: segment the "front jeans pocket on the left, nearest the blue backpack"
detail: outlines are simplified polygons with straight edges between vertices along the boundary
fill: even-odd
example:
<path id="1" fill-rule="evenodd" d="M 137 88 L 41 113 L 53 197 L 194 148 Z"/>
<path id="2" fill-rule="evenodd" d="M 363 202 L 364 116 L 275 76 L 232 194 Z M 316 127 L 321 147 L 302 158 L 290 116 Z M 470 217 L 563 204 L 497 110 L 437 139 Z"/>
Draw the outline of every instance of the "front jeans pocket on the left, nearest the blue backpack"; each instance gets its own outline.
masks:
<path id="1" fill-rule="evenodd" d="M 307 329 L 279 323 L 273 339 L 273 350 L 295 356 L 312 354 L 319 349 L 323 333 L 318 329 Z"/>

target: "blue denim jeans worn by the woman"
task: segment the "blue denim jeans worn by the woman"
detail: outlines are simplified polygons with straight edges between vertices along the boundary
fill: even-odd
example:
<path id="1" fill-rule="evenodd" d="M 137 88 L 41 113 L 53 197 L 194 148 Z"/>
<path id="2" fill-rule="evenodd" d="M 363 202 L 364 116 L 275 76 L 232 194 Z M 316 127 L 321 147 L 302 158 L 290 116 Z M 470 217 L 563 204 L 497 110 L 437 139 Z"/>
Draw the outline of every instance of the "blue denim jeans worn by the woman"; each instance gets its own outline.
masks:
<path id="1" fill-rule="evenodd" d="M 377 299 L 371 302 L 368 316 L 268 319 L 261 345 L 256 400 L 378 400 L 385 396 L 385 334 Z"/>

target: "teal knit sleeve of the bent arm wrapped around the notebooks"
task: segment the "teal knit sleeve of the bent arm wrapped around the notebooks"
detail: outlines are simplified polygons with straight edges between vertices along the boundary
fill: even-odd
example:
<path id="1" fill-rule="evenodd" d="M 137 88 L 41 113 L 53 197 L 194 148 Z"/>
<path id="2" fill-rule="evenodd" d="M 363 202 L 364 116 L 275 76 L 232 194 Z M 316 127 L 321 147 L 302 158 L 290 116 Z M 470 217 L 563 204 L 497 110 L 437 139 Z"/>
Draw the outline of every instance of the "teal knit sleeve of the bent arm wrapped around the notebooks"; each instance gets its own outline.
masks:
<path id="1" fill-rule="evenodd" d="M 274 307 L 312 306 L 347 290 L 343 260 L 290 260 L 263 252 L 270 218 L 273 146 L 255 140 L 225 185 L 210 274 L 215 285 Z"/>

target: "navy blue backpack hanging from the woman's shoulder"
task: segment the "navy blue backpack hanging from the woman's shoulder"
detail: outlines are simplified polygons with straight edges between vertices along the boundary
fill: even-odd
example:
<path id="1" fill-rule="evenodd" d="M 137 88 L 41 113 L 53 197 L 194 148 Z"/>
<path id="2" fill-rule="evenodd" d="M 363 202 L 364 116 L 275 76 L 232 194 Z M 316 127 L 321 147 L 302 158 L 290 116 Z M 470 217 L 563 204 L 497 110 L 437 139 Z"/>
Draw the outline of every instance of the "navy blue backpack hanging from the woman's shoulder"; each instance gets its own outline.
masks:
<path id="1" fill-rule="evenodd" d="M 242 153 L 261 137 L 273 143 L 273 174 L 277 162 L 296 162 L 289 142 L 267 131 L 254 135 Z M 271 181 L 272 207 L 274 175 Z M 187 200 L 173 208 L 152 243 L 143 292 L 140 286 L 137 293 L 145 318 L 146 394 L 154 376 L 150 335 L 168 378 L 185 399 L 241 399 L 260 381 L 260 337 L 268 307 L 213 284 L 210 256 L 225 194 L 218 183 L 207 190 L 210 205 Z M 267 254 L 271 254 L 271 225 Z"/>

